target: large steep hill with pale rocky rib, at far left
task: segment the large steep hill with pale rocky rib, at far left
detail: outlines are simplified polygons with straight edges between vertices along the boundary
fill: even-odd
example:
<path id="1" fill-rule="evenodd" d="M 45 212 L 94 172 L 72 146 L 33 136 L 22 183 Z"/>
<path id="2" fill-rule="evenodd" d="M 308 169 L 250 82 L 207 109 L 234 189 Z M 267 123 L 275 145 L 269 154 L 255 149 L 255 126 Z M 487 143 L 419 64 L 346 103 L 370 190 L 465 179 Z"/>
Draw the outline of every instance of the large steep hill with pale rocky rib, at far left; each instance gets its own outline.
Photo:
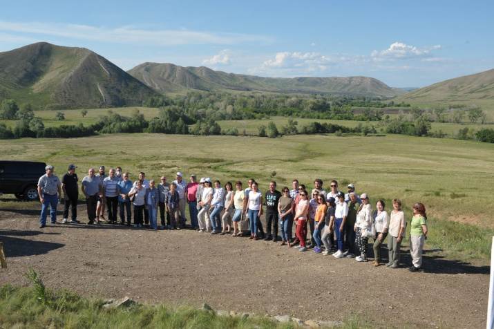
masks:
<path id="1" fill-rule="evenodd" d="M 40 42 L 0 53 L 0 100 L 54 109 L 135 106 L 156 91 L 86 48 Z"/>

